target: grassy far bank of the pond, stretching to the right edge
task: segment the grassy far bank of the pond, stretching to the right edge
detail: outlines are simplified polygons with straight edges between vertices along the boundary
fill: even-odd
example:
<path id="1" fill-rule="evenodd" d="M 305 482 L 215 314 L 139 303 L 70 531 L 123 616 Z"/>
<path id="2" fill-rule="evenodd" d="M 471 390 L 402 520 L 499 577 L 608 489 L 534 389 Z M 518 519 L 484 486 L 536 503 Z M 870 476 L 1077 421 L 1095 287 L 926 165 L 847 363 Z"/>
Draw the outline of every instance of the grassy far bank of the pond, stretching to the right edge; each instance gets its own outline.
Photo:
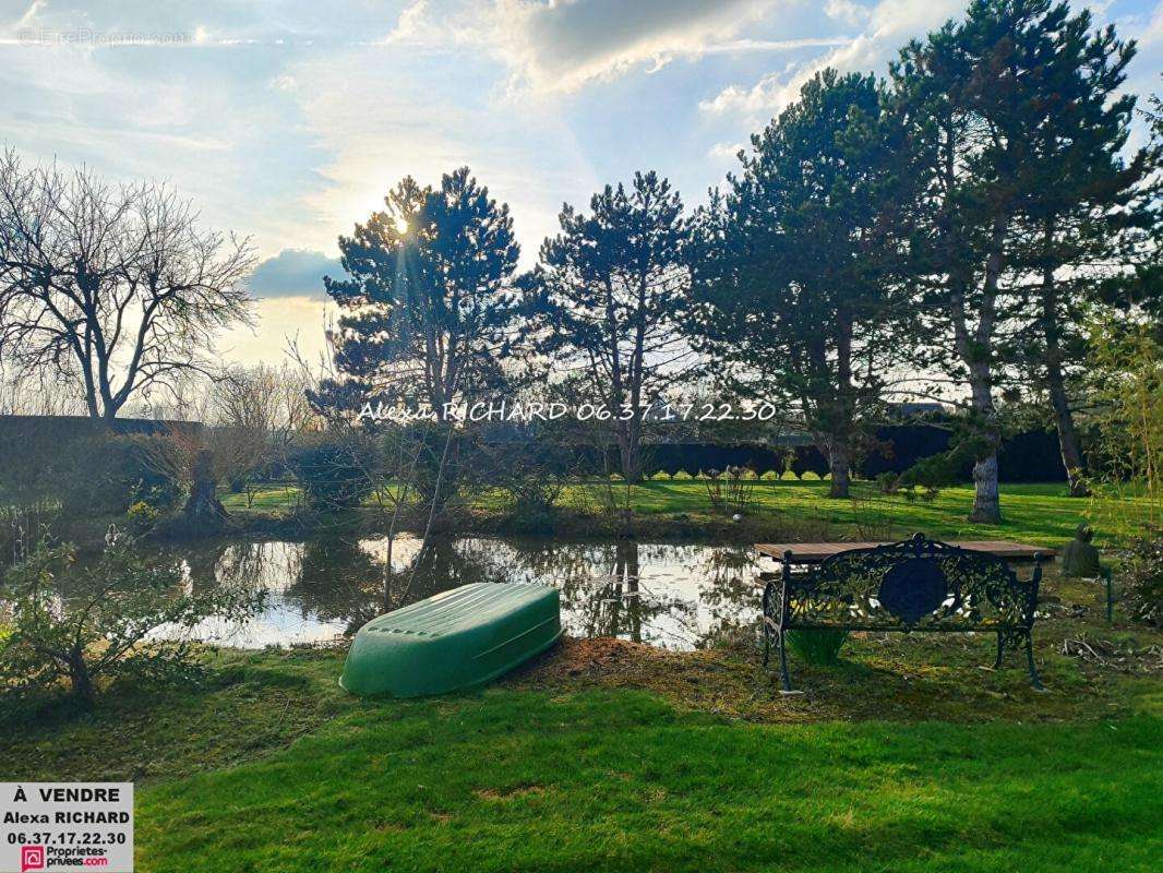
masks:
<path id="1" fill-rule="evenodd" d="M 605 509 L 611 490 L 587 483 L 568 489 L 548 527 L 530 530 L 514 518 L 500 495 L 483 494 L 457 506 L 440 527 L 463 534 L 552 534 L 559 538 L 633 535 L 638 539 L 714 539 L 720 542 L 808 541 L 905 538 L 918 531 L 940 539 L 1008 539 L 1051 547 L 1069 541 L 1082 521 L 1097 527 L 1096 541 L 1112 545 L 1141 530 L 1160 508 L 1140 497 L 1070 497 L 1064 483 L 1006 484 L 1001 490 L 1003 523 L 966 520 L 973 501 L 971 485 L 948 488 L 933 501 L 909 501 L 880 494 L 875 483 L 856 482 L 850 499 L 827 496 L 820 480 L 758 481 L 752 504 L 733 521 L 719 512 L 697 480 L 661 480 L 640 485 L 616 484 L 612 494 L 629 514 Z M 304 535 L 331 527 L 384 531 L 390 513 L 372 506 L 343 518 L 320 518 L 298 509 L 293 487 L 259 491 L 248 508 L 243 495 L 222 495 L 236 530 L 255 535 Z M 398 530 L 422 531 L 426 513 L 405 512 Z"/>

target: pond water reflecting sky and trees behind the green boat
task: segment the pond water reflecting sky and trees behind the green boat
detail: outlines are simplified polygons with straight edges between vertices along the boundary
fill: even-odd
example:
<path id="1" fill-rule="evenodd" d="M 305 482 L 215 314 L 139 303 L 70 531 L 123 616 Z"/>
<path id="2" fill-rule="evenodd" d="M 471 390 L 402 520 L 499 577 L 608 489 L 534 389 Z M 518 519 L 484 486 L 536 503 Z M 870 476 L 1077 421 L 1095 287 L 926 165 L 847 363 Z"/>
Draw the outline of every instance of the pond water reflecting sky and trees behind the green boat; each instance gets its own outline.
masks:
<path id="1" fill-rule="evenodd" d="M 761 590 L 743 546 L 398 537 L 216 542 L 181 549 L 190 584 L 266 591 L 248 619 L 209 619 L 206 641 L 242 648 L 334 640 L 408 603 L 469 582 L 540 582 L 562 594 L 575 637 L 620 637 L 671 650 L 754 633 Z"/>

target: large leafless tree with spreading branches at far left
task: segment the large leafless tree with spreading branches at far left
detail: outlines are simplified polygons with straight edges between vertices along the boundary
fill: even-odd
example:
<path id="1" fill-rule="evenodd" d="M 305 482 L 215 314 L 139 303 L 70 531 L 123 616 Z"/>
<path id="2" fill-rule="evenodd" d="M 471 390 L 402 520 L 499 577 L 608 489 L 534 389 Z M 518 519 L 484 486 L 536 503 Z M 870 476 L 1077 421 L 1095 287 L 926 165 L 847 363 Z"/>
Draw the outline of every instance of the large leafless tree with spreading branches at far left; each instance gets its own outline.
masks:
<path id="1" fill-rule="evenodd" d="M 0 155 L 0 356 L 78 385 L 92 418 L 212 374 L 215 333 L 251 322 L 252 264 L 166 185 Z"/>

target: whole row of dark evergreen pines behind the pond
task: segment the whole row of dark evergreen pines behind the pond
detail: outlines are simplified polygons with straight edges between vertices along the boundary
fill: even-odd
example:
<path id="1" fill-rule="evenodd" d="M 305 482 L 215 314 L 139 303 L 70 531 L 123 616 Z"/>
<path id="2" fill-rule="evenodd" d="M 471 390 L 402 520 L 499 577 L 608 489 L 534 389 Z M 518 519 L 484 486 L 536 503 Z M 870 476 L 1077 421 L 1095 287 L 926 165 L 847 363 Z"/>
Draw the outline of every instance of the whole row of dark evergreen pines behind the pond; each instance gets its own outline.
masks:
<path id="1" fill-rule="evenodd" d="M 409 177 L 340 240 L 319 406 L 598 398 L 625 410 L 605 433 L 635 481 L 644 404 L 772 399 L 844 497 L 886 404 L 940 396 L 963 407 L 972 518 L 998 521 L 1007 412 L 1044 404 L 1085 494 L 1087 326 L 1158 312 L 1161 137 L 1126 148 L 1134 52 L 1063 2 L 973 0 L 885 79 L 813 77 L 693 214 L 655 172 L 565 205 L 523 275 L 508 208 L 466 169 Z"/>

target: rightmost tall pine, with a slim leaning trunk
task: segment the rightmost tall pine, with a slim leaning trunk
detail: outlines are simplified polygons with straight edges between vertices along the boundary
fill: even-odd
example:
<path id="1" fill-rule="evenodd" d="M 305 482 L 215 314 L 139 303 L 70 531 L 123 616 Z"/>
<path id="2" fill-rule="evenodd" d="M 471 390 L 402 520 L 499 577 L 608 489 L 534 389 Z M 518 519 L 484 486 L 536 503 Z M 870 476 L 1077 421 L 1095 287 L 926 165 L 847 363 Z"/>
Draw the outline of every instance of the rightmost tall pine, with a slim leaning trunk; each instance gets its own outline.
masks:
<path id="1" fill-rule="evenodd" d="M 1129 162 L 1122 150 L 1135 98 L 1120 95 L 1134 45 L 1114 29 L 1091 31 L 1091 15 L 1049 9 L 1042 27 L 1022 31 L 1022 55 L 1036 58 L 1016 106 L 1027 143 L 1018 168 L 1020 223 L 1013 257 L 1028 269 L 1032 312 L 1018 334 L 1018 359 L 1047 392 L 1072 495 L 1086 494 L 1068 377 L 1085 356 L 1079 329 L 1100 281 L 1120 264 L 1127 246 L 1157 220 L 1144 183 L 1158 166 L 1158 149 Z"/>

